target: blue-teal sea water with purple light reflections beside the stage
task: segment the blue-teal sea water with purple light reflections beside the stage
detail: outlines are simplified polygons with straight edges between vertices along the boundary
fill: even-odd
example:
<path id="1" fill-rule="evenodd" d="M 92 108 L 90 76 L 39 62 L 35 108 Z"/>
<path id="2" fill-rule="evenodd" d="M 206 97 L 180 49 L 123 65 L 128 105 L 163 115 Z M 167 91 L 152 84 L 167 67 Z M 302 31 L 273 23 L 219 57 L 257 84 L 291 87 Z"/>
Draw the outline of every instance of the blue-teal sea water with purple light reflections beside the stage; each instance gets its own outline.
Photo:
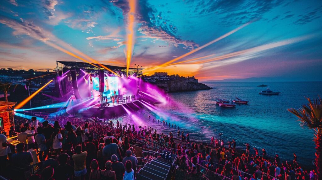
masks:
<path id="1" fill-rule="evenodd" d="M 257 87 L 261 82 L 205 82 L 212 90 L 170 93 L 171 100 L 155 107 L 146 106 L 136 112 L 135 123 L 152 126 L 164 133 L 176 136 L 176 124 L 181 131 L 190 134 L 190 139 L 210 142 L 211 137 L 225 142 L 235 139 L 237 146 L 250 143 L 268 155 L 279 154 L 291 161 L 293 153 L 298 162 L 312 165 L 315 146 L 313 130 L 299 126 L 297 117 L 287 111 L 307 103 L 305 97 L 322 95 L 321 82 L 266 82 L 280 95 L 260 95 L 266 87 Z M 223 108 L 215 104 L 217 98 L 233 100 L 235 97 L 248 100 L 247 105 Z M 150 116 L 150 118 L 148 117 Z M 153 118 L 171 123 L 171 127 L 153 121 Z M 133 116 L 116 118 L 124 123 L 133 122 Z M 115 120 L 116 120 L 115 119 Z"/>

